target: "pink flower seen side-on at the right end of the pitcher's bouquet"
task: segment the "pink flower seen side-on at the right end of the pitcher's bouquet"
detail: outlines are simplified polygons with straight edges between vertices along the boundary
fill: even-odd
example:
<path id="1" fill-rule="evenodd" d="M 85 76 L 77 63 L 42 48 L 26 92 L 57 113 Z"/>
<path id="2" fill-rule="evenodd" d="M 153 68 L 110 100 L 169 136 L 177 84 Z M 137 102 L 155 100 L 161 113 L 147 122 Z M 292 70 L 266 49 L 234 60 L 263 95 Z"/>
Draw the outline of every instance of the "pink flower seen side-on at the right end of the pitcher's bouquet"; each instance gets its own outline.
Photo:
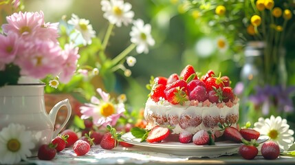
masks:
<path id="1" fill-rule="evenodd" d="M 65 50 L 63 51 L 63 58 L 65 58 L 65 63 L 63 63 L 63 69 L 61 69 L 59 80 L 63 83 L 67 83 L 76 71 L 78 58 L 80 58 L 78 47 L 66 44 Z"/>

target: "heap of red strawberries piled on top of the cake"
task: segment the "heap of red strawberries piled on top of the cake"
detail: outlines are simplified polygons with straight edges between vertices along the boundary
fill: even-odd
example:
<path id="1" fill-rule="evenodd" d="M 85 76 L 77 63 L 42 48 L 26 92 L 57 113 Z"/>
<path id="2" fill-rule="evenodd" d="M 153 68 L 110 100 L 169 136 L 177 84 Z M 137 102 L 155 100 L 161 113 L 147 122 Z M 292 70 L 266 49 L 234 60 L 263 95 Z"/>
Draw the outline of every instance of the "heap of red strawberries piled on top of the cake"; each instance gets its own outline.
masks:
<path id="1" fill-rule="evenodd" d="M 151 80 L 150 97 L 154 102 L 165 99 L 171 104 L 184 104 L 188 100 L 211 103 L 233 102 L 236 96 L 230 87 L 228 76 L 216 76 L 209 70 L 200 78 L 192 65 L 187 65 L 182 72 L 171 74 L 168 78 L 158 76 Z"/>

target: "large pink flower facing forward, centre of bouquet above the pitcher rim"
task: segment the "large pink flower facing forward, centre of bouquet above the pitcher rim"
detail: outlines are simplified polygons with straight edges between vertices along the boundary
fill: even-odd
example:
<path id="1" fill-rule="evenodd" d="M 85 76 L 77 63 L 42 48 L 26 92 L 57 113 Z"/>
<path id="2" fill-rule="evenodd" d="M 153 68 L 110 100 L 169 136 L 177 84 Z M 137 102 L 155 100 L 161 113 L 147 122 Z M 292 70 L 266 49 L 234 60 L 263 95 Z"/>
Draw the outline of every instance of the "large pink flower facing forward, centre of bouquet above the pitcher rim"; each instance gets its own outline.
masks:
<path id="1" fill-rule="evenodd" d="M 61 47 L 52 41 L 23 42 L 19 47 L 14 64 L 21 68 L 21 75 L 45 78 L 47 74 L 56 76 L 65 59 Z"/>

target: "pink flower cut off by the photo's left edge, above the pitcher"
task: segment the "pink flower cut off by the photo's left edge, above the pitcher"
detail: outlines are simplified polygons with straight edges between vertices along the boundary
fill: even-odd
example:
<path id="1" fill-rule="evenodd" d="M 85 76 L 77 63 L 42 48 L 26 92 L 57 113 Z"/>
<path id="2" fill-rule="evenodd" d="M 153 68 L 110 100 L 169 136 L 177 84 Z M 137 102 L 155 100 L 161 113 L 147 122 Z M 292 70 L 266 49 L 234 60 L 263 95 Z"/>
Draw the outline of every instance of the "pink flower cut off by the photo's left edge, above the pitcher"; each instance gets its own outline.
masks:
<path id="1" fill-rule="evenodd" d="M 4 64 L 12 63 L 18 50 L 18 37 L 12 33 L 8 36 L 0 34 L 0 62 Z"/>

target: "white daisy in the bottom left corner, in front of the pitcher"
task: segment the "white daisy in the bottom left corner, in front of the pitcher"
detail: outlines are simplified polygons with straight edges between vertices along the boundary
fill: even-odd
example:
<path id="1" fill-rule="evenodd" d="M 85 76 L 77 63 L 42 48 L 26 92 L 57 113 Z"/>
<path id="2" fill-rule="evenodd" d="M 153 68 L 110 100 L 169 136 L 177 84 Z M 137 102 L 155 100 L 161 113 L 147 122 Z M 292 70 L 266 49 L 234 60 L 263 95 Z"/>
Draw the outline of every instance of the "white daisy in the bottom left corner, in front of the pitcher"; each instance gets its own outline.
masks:
<path id="1" fill-rule="evenodd" d="M 21 124 L 9 124 L 0 132 L 0 163 L 17 164 L 21 159 L 32 156 L 34 148 L 30 131 L 25 131 Z"/>

